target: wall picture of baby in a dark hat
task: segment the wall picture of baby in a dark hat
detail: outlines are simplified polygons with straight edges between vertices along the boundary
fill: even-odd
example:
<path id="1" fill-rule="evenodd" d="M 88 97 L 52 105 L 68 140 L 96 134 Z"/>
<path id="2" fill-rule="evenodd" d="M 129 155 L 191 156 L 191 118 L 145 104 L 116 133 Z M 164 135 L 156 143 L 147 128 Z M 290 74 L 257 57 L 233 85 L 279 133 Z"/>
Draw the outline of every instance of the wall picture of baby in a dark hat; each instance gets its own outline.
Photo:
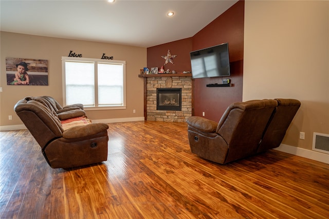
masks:
<path id="1" fill-rule="evenodd" d="M 48 60 L 6 57 L 7 85 L 48 86 Z"/>

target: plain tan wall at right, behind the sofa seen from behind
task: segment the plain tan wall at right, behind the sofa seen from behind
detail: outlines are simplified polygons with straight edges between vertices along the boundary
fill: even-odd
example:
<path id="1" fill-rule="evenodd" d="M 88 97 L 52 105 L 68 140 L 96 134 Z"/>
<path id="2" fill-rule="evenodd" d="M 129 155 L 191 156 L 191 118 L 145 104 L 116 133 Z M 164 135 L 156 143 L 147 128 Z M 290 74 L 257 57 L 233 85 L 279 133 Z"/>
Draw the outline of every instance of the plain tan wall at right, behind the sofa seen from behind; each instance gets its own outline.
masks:
<path id="1" fill-rule="evenodd" d="M 283 144 L 311 150 L 329 134 L 329 2 L 246 1 L 243 76 L 244 101 L 301 101 Z"/>

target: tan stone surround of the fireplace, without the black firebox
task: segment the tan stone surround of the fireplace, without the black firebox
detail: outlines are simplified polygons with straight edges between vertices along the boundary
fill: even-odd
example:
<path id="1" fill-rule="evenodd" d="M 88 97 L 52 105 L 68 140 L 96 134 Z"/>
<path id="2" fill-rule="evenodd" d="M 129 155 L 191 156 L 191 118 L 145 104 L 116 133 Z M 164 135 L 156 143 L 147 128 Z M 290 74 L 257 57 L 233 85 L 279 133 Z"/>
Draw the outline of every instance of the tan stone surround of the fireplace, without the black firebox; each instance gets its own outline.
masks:
<path id="1" fill-rule="evenodd" d="M 181 88 L 181 111 L 156 110 L 157 88 Z M 192 116 L 192 77 L 147 77 L 147 120 L 186 122 Z"/>

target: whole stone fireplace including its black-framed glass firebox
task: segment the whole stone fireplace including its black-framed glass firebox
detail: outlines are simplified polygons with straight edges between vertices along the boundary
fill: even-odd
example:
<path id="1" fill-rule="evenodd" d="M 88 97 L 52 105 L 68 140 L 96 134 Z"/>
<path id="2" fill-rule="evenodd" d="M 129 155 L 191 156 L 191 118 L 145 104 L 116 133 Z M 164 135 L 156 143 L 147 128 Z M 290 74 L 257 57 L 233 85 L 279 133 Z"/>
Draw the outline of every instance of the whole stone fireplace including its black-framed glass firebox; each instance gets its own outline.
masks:
<path id="1" fill-rule="evenodd" d="M 185 74 L 164 75 L 154 77 L 147 75 L 147 77 L 144 77 L 145 120 L 186 122 L 187 118 L 192 116 L 192 76 Z M 165 89 L 165 92 L 167 92 L 165 99 L 161 99 L 162 97 L 160 99 L 157 98 L 158 91 L 162 91 L 162 89 Z M 179 94 L 176 89 L 179 89 Z M 170 92 L 176 92 L 176 94 L 168 93 L 169 90 L 171 90 Z M 180 98 L 178 98 L 178 95 L 180 95 Z M 168 108 L 171 107 L 170 103 L 172 105 L 177 104 L 177 98 L 180 100 L 180 107 Z M 171 102 L 169 99 L 171 99 Z M 175 99 L 175 102 L 173 102 L 173 99 Z"/>

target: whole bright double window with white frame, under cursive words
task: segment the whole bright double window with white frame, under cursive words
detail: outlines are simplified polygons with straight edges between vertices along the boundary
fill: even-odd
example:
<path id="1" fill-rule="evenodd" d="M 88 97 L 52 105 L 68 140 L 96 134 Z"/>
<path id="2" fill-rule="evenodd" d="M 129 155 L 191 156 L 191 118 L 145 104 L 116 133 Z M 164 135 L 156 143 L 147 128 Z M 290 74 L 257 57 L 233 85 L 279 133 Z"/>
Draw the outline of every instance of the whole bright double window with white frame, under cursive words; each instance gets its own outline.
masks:
<path id="1" fill-rule="evenodd" d="M 62 57 L 64 104 L 125 109 L 125 61 Z"/>

